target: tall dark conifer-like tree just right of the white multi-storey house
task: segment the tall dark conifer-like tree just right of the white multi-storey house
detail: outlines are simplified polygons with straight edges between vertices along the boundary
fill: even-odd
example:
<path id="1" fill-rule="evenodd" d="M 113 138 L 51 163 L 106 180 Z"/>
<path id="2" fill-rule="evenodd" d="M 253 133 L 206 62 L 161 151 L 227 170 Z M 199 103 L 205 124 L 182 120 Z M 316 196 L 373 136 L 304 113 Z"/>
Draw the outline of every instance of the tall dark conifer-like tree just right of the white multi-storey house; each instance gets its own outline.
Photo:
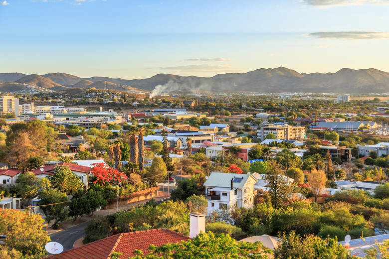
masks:
<path id="1" fill-rule="evenodd" d="M 266 187 L 271 198 L 271 203 L 278 208 L 290 194 L 288 181 L 280 170 L 280 165 L 274 160 L 268 162 L 268 171 L 264 176 Z"/>

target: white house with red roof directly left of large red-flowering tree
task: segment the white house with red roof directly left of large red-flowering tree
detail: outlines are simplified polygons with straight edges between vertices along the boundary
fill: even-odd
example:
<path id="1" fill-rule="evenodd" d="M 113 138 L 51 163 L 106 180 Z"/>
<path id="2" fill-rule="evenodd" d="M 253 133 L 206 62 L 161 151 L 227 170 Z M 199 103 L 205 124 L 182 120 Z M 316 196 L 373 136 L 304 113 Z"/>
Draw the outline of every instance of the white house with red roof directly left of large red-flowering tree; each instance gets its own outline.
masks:
<path id="1" fill-rule="evenodd" d="M 83 166 L 78 164 L 70 164 L 70 163 L 58 163 L 58 164 L 51 164 L 47 166 L 39 167 L 35 170 L 32 170 L 32 172 L 38 177 L 38 178 L 44 178 L 50 175 L 54 175 L 54 168 L 56 166 L 67 166 L 69 169 L 80 178 L 80 181 L 88 188 L 88 177 L 87 175 L 90 173 L 90 167 L 89 166 Z"/>

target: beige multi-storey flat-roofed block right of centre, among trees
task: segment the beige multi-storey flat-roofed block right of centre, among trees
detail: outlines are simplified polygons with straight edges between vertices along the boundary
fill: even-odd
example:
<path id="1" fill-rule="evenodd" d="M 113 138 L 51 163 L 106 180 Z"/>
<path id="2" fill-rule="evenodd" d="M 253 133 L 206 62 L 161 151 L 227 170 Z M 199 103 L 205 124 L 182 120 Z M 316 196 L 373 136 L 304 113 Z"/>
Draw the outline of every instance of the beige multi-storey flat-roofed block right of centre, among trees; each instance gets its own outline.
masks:
<path id="1" fill-rule="evenodd" d="M 266 135 L 272 133 L 276 139 L 304 139 L 306 129 L 301 126 L 266 125 L 257 130 L 257 138 L 263 141 Z"/>

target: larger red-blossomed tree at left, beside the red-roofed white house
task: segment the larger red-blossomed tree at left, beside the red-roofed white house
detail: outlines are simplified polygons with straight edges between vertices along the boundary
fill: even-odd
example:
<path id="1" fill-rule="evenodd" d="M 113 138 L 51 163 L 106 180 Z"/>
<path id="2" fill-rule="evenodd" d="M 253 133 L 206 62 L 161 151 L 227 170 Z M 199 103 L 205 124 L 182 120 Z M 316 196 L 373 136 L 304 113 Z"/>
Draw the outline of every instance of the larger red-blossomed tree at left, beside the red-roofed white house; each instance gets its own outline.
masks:
<path id="1" fill-rule="evenodd" d="M 117 169 L 111 168 L 104 163 L 94 163 L 92 164 L 92 174 L 96 176 L 97 180 L 93 183 L 100 183 L 105 185 L 110 182 L 122 182 L 127 179 L 127 175 L 122 172 L 119 172 Z"/>

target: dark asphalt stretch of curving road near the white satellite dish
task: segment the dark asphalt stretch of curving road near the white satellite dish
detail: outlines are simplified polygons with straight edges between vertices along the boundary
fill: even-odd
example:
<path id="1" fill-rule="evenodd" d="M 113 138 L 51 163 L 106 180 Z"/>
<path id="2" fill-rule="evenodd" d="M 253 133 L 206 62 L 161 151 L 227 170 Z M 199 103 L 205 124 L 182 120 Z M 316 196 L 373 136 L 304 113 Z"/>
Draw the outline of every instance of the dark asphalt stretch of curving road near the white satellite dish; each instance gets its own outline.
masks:
<path id="1" fill-rule="evenodd" d="M 76 225 L 74 227 L 64 229 L 58 232 L 55 232 L 50 235 L 51 241 L 58 242 L 63 246 L 63 251 L 73 248 L 73 243 L 85 236 L 85 227 L 88 222 Z"/>

